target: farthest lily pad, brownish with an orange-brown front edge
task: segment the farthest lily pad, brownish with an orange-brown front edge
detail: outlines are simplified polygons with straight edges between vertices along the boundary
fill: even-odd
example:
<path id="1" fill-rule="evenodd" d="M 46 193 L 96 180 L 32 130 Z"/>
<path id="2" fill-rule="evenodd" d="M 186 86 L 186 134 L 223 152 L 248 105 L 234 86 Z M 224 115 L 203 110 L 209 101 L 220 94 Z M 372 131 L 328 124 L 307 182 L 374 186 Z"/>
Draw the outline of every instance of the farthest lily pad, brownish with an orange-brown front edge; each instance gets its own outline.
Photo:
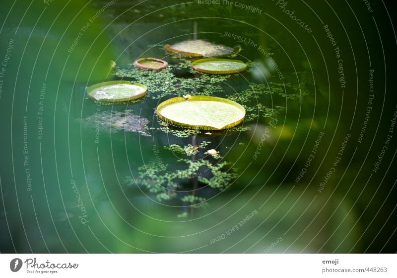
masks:
<path id="1" fill-rule="evenodd" d="M 205 40 L 187 40 L 173 45 L 166 44 L 165 49 L 172 53 L 190 57 L 221 57 L 236 55 L 240 47 L 229 47 L 222 44 L 214 44 Z"/>

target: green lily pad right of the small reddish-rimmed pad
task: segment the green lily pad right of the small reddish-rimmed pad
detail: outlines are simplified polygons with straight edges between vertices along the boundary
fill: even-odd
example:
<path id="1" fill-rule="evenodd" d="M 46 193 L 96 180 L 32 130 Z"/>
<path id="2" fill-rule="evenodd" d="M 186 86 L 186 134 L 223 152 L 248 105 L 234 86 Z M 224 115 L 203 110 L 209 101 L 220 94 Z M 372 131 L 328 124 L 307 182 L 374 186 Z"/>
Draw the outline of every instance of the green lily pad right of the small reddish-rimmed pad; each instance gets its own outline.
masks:
<path id="1" fill-rule="evenodd" d="M 245 71 L 247 64 L 240 60 L 207 58 L 194 61 L 192 68 L 208 74 L 232 74 Z"/>

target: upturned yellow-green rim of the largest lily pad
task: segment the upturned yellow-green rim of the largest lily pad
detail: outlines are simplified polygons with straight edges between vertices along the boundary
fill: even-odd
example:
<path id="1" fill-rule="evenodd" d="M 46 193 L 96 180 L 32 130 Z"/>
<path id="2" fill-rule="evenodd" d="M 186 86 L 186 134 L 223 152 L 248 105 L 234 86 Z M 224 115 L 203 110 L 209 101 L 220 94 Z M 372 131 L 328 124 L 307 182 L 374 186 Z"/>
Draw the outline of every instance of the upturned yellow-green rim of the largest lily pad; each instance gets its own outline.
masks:
<path id="1" fill-rule="evenodd" d="M 181 122 L 171 120 L 171 119 L 161 115 L 161 109 L 164 108 L 165 106 L 168 106 L 175 102 L 190 101 L 190 100 L 207 100 L 207 101 L 218 101 L 218 102 L 227 103 L 227 104 L 233 105 L 233 106 L 237 107 L 238 109 L 242 110 L 244 112 L 244 116 L 235 122 L 229 123 L 221 128 L 216 128 L 216 127 L 209 126 L 209 125 L 191 125 L 191 124 L 181 123 Z M 208 96 L 208 95 L 194 95 L 194 96 L 191 96 L 189 99 L 186 99 L 182 96 L 177 96 L 177 97 L 172 97 L 170 99 L 167 99 L 167 100 L 161 102 L 159 105 L 157 105 L 156 114 L 162 121 L 164 121 L 168 124 L 174 125 L 174 126 L 178 126 L 178 127 L 195 129 L 195 130 L 224 130 L 224 129 L 228 129 L 228 128 L 234 127 L 234 126 L 242 123 L 245 119 L 246 111 L 241 104 L 239 104 L 233 100 L 227 99 L 227 98 Z"/>

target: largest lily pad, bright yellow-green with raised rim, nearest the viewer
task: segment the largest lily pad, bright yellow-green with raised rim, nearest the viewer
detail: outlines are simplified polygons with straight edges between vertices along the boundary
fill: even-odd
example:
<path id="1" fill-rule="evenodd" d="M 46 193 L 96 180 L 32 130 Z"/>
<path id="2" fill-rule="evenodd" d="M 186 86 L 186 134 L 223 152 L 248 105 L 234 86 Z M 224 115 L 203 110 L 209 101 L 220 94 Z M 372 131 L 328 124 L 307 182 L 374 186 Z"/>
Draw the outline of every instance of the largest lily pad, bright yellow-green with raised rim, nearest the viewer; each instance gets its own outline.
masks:
<path id="1" fill-rule="evenodd" d="M 243 106 L 232 100 L 206 95 L 170 98 L 157 106 L 157 115 L 167 123 L 201 130 L 221 130 L 240 124 Z"/>

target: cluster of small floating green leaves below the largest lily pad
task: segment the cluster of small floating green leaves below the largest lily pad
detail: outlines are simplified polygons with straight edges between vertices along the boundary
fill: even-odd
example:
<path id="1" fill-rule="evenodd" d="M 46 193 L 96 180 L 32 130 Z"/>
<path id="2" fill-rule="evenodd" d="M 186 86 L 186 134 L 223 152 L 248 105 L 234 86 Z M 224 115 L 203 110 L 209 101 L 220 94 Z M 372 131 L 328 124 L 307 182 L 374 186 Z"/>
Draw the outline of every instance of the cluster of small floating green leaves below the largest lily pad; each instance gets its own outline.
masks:
<path id="1" fill-rule="evenodd" d="M 203 141 L 199 145 L 170 145 L 164 147 L 165 149 L 184 155 L 185 158 L 178 159 L 180 165 L 170 169 L 168 165 L 159 165 L 156 161 L 152 161 L 140 168 L 138 184 L 145 186 L 149 192 L 156 194 L 159 201 L 167 201 L 175 197 L 179 197 L 182 202 L 194 208 L 206 206 L 205 197 L 199 195 L 199 191 L 191 191 L 190 189 L 183 189 L 184 185 L 197 181 L 200 189 L 206 186 L 218 188 L 220 190 L 226 189 L 231 182 L 238 177 L 237 170 L 229 168 L 229 162 L 222 161 L 220 155 L 213 156 L 213 163 L 208 159 L 191 160 L 192 155 L 197 155 L 203 151 L 208 141 Z M 178 167 L 179 166 L 179 167 Z M 202 174 L 204 173 L 204 174 Z M 193 185 L 193 184 L 192 184 Z M 179 217 L 183 216 L 182 214 Z M 185 214 L 185 216 L 187 216 Z"/>

